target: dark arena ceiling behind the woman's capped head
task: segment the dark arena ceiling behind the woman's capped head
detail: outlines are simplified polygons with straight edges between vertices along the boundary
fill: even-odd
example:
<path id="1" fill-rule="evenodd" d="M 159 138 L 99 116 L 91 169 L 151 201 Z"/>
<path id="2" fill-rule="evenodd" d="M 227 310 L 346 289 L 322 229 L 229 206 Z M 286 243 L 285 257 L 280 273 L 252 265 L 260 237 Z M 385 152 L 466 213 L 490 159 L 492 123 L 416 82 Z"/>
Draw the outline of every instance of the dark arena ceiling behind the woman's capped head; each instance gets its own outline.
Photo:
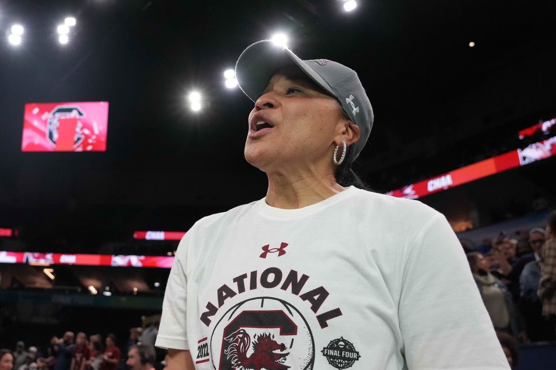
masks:
<path id="1" fill-rule="evenodd" d="M 263 197 L 242 155 L 253 104 L 223 73 L 276 32 L 301 58 L 359 73 L 375 123 L 354 169 L 379 191 L 515 149 L 519 129 L 556 117 L 553 0 L 343 3 L 0 0 L 0 227 L 35 249 L 102 252 Z M 86 101 L 110 104 L 106 152 L 22 152 L 24 104 Z M 498 188 L 549 193 L 545 173 Z"/>

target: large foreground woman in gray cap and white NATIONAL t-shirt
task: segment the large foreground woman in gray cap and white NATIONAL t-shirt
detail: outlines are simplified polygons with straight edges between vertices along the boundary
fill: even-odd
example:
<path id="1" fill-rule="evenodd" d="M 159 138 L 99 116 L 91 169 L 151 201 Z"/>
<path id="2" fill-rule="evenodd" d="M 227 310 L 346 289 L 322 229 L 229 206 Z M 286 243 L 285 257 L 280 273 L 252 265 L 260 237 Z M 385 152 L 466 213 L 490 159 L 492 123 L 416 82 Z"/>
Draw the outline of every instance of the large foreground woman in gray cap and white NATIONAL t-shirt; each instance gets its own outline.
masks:
<path id="1" fill-rule="evenodd" d="M 255 102 L 245 158 L 269 186 L 180 242 L 168 368 L 507 368 L 446 219 L 351 186 L 373 124 L 357 74 L 261 41 L 236 76 Z"/>

